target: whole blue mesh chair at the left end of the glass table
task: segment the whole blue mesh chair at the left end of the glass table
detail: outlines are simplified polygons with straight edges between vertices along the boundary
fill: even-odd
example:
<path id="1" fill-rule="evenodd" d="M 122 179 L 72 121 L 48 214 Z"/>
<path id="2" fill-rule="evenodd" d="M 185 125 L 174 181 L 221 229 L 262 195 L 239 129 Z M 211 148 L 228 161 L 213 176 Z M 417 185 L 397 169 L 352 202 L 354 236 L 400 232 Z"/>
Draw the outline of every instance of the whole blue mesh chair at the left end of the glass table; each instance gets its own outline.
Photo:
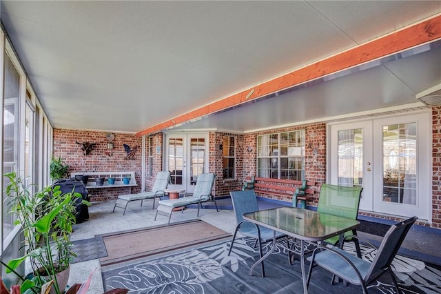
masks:
<path id="1" fill-rule="evenodd" d="M 237 226 L 232 238 L 232 244 L 229 247 L 228 256 L 232 252 L 237 233 L 240 233 L 246 237 L 256 239 L 256 242 L 254 242 L 254 248 L 256 248 L 256 245 L 258 245 L 259 257 L 262 258 L 262 244 L 271 242 L 273 240 L 274 230 L 264 226 L 258 226 L 257 224 L 247 222 L 243 219 L 244 213 L 251 213 L 259 210 L 256 193 L 254 190 L 242 190 L 230 192 L 229 195 L 232 197 Z M 286 237 L 286 235 L 276 232 L 276 239 L 283 237 Z M 262 269 L 262 277 L 265 277 L 265 267 L 263 266 L 263 262 L 260 263 L 260 267 Z"/>

